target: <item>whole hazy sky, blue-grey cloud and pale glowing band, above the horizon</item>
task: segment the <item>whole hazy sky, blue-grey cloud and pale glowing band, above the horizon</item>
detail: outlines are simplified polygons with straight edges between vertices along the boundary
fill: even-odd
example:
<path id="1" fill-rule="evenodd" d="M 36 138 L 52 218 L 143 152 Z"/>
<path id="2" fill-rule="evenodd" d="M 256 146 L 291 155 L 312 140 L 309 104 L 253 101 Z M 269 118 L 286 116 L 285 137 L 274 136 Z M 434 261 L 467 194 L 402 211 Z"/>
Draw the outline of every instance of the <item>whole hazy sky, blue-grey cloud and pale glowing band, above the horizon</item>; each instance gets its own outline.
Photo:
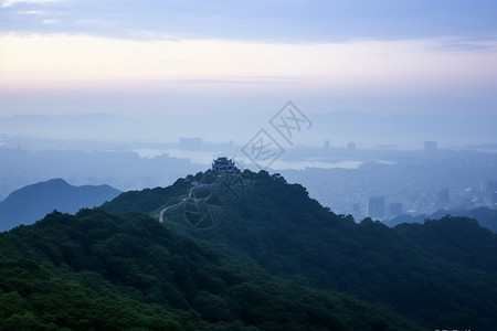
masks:
<path id="1" fill-rule="evenodd" d="M 495 0 L 0 3 L 0 116 L 497 113 Z"/>

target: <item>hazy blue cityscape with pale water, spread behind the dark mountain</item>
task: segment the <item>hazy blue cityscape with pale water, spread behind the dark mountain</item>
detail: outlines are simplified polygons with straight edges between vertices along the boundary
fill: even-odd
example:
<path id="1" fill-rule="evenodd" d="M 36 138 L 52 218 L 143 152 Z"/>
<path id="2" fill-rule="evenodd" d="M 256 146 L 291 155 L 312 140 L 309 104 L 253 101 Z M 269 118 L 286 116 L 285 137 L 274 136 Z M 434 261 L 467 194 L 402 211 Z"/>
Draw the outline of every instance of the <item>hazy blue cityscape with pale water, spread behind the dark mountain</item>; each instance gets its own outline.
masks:
<path id="1" fill-rule="evenodd" d="M 241 154 L 233 142 L 203 143 L 200 138 L 184 137 L 177 143 L 152 146 L 159 152 L 150 158 L 129 150 L 24 150 L 13 145 L 18 140 L 9 141 L 7 137 L 2 140 L 1 199 L 54 175 L 76 185 L 109 184 L 121 191 L 165 186 L 179 177 L 209 168 L 208 161 L 200 163 L 202 158 L 195 156 Z M 161 149 L 191 159 L 161 154 Z M 243 158 L 235 158 L 240 160 Z M 257 170 L 243 161 L 247 168 Z M 283 167 L 299 169 L 269 169 L 271 172 L 303 184 L 322 205 L 338 214 L 351 214 L 358 221 L 388 220 L 401 214 L 430 215 L 438 210 L 496 207 L 497 154 L 491 152 L 438 149 L 435 141 L 425 142 L 419 150 L 381 147 L 361 150 L 355 142 L 334 148 L 327 140 L 319 148 L 289 149 L 278 161 Z"/>

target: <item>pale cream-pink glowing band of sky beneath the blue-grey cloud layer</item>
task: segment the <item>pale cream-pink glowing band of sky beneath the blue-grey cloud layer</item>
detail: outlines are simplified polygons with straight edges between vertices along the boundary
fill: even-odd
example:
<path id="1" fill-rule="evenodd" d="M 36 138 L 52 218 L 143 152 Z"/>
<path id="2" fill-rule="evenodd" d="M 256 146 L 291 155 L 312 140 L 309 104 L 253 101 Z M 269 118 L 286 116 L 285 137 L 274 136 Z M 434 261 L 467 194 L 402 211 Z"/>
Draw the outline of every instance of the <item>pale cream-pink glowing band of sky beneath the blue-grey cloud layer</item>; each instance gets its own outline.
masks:
<path id="1" fill-rule="evenodd" d="M 488 46 L 485 52 L 463 52 L 441 47 L 443 40 L 274 44 L 86 34 L 7 34 L 1 40 L 0 89 L 15 93 L 413 100 L 466 96 L 495 105 L 497 89 L 495 41 L 480 42 Z"/>

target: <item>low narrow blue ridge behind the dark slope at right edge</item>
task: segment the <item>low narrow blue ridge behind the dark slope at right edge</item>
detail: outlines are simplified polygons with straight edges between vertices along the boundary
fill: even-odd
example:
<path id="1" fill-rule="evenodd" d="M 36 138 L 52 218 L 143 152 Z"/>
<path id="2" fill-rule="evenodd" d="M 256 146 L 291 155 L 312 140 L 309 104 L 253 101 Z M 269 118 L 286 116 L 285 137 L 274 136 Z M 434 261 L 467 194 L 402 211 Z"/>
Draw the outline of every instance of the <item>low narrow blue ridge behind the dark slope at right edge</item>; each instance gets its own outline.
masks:
<path id="1" fill-rule="evenodd" d="M 384 224 L 388 226 L 395 226 L 402 223 L 423 223 L 425 220 L 436 220 L 442 218 L 445 215 L 452 215 L 452 216 L 462 216 L 462 217 L 469 217 L 475 218 L 478 221 L 478 224 L 483 227 L 486 227 L 490 229 L 494 233 L 497 233 L 497 210 L 490 210 L 488 207 L 478 207 L 473 209 L 469 211 L 437 211 L 430 216 L 427 215 L 419 215 L 419 216 L 411 216 L 411 215 L 400 215 L 396 217 L 393 217 L 392 220 L 384 221 Z"/>

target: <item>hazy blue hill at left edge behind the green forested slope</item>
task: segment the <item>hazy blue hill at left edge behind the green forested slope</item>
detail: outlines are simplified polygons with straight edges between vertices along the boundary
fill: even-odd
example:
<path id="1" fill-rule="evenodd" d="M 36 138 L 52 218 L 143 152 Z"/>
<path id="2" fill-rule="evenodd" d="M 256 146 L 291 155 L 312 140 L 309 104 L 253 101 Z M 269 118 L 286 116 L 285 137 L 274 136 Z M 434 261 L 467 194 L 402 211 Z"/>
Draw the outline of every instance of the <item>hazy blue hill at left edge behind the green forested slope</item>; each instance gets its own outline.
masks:
<path id="1" fill-rule="evenodd" d="M 83 207 L 94 207 L 119 193 L 108 185 L 73 186 L 62 179 L 28 185 L 0 202 L 0 231 L 32 224 L 54 210 L 75 213 Z"/>

